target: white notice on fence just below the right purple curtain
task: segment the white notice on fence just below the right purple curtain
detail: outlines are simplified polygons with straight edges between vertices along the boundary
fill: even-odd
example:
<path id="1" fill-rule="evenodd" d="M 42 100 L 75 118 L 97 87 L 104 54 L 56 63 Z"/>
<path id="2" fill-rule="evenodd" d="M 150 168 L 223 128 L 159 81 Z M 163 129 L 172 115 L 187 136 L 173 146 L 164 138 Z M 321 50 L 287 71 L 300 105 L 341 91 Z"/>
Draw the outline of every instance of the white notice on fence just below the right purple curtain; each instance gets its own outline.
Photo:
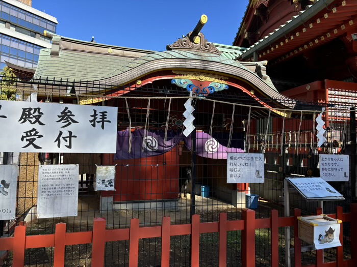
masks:
<path id="1" fill-rule="evenodd" d="M 264 183 L 264 154 L 228 153 L 227 183 Z"/>

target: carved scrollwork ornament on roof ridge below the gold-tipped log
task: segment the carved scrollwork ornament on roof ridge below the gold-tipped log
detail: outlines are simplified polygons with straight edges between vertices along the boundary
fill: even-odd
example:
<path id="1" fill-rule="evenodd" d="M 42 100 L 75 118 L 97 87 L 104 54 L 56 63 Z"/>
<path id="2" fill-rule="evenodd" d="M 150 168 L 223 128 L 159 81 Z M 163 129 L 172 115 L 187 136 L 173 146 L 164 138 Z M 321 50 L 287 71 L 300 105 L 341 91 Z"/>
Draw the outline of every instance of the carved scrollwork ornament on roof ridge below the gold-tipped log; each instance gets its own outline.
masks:
<path id="1" fill-rule="evenodd" d="M 191 38 L 192 35 L 192 38 Z M 171 45 L 167 45 L 167 50 L 182 49 L 182 50 L 195 50 L 198 52 L 208 52 L 220 55 L 222 52 L 217 47 L 205 39 L 205 35 L 198 33 L 198 35 L 189 33 L 187 36 L 177 40 Z M 193 39 L 191 41 L 191 39 Z"/>

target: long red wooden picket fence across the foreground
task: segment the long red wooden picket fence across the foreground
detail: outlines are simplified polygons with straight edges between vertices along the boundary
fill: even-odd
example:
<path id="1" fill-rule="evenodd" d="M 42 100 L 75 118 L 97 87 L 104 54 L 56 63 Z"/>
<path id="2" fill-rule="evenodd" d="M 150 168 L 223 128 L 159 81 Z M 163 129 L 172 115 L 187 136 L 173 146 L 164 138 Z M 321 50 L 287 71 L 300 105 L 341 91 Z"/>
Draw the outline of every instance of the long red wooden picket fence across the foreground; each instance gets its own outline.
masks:
<path id="1" fill-rule="evenodd" d="M 318 210 L 321 213 L 321 210 Z M 26 227 L 16 226 L 15 234 L 10 238 L 0 239 L 0 250 L 13 251 L 13 267 L 24 265 L 25 249 L 55 247 L 54 266 L 63 267 L 65 246 L 92 243 L 92 266 L 104 266 L 105 244 L 112 241 L 130 241 L 129 266 L 138 266 L 139 239 L 162 238 L 161 266 L 168 267 L 170 260 L 170 236 L 191 234 L 191 264 L 199 266 L 200 233 L 219 232 L 219 266 L 227 263 L 227 231 L 241 230 L 242 266 L 256 265 L 255 234 L 256 229 L 271 228 L 271 266 L 278 266 L 278 227 L 294 226 L 295 266 L 301 266 L 301 241 L 298 236 L 298 220 L 301 211 L 295 209 L 294 217 L 278 217 L 277 211 L 271 212 L 271 218 L 256 219 L 252 210 L 242 211 L 242 220 L 227 221 L 227 214 L 219 216 L 219 222 L 200 223 L 199 215 L 194 215 L 191 224 L 171 225 L 170 217 L 164 217 L 162 226 L 139 227 L 139 219 L 132 219 L 130 228 L 106 229 L 106 220 L 94 220 L 93 231 L 66 233 L 66 224 L 58 223 L 54 234 L 25 235 Z M 343 224 L 340 230 L 342 246 L 337 249 L 337 261 L 323 263 L 322 250 L 317 251 L 317 264 L 305 267 L 348 267 L 357 266 L 357 204 L 351 204 L 351 212 L 343 214 L 338 207 L 336 215 L 329 215 L 343 222 L 351 222 L 351 259 L 343 260 Z M 353 219 L 352 219 L 353 218 Z"/>

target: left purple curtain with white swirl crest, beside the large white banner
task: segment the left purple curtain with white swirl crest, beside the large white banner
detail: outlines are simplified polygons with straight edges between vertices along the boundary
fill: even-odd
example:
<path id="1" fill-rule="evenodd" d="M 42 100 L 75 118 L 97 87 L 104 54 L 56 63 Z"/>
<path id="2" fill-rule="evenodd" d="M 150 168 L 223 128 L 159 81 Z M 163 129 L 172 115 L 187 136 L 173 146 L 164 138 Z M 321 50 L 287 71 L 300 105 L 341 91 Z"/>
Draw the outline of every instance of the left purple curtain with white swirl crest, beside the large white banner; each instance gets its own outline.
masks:
<path id="1" fill-rule="evenodd" d="M 181 140 L 180 135 L 168 131 L 166 144 L 164 142 L 165 132 L 149 132 L 146 133 L 144 140 L 144 130 L 136 129 L 132 132 L 132 150 L 129 153 L 129 130 L 118 131 L 115 160 L 123 159 L 139 159 L 146 157 L 155 157 L 166 152 L 169 152 Z M 142 144 L 144 141 L 144 151 L 142 151 Z"/>

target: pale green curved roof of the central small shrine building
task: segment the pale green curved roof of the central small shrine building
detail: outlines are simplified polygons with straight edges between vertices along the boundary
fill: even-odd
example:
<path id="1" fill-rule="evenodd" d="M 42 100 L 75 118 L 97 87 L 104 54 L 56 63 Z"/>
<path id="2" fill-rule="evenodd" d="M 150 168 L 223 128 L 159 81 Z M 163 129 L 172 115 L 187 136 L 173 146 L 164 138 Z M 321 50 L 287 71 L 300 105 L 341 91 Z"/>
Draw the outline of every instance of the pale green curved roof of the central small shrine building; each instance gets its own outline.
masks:
<path id="1" fill-rule="evenodd" d="M 109 79 L 117 75 L 129 72 L 146 63 L 154 63 L 162 60 L 188 60 L 182 66 L 188 69 L 197 68 L 194 61 L 219 63 L 230 67 L 244 69 L 257 75 L 252 70 L 254 66 L 245 66 L 248 63 L 239 63 L 236 58 L 241 55 L 244 49 L 235 46 L 214 44 L 216 48 L 222 51 L 222 54 L 215 54 L 206 51 L 197 51 L 190 49 L 174 49 L 162 52 L 152 52 L 148 50 L 139 50 L 132 48 L 113 47 L 113 52 L 108 52 L 112 47 L 107 45 L 91 44 L 90 42 L 80 42 L 78 40 L 61 43 L 61 46 L 54 46 L 52 49 L 41 49 L 38 67 L 34 78 L 62 79 L 68 81 L 80 80 L 101 80 Z M 93 48 L 94 47 L 94 48 Z M 118 48 L 118 49 L 117 49 Z M 82 49 L 82 50 L 80 50 Z M 99 50 L 101 49 L 101 50 Z M 104 49 L 104 50 L 103 50 Z M 51 55 L 52 52 L 57 52 Z M 159 63 L 160 65 L 161 63 Z M 160 66 L 157 67 L 160 69 Z M 224 71 L 223 71 L 224 72 Z M 133 75 L 133 74 L 130 74 Z M 274 85 L 270 79 L 263 80 L 274 91 Z"/>

